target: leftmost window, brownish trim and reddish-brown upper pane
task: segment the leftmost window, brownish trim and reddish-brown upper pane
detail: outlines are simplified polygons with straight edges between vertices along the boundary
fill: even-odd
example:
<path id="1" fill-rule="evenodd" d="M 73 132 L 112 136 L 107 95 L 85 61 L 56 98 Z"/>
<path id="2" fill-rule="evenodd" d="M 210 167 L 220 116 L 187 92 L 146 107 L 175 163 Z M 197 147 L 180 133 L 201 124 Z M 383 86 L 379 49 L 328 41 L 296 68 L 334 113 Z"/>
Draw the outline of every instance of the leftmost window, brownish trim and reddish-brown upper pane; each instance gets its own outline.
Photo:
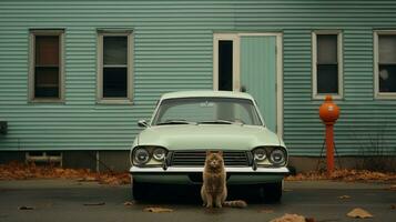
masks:
<path id="1" fill-rule="evenodd" d="M 63 30 L 30 31 L 30 101 L 63 100 Z"/>

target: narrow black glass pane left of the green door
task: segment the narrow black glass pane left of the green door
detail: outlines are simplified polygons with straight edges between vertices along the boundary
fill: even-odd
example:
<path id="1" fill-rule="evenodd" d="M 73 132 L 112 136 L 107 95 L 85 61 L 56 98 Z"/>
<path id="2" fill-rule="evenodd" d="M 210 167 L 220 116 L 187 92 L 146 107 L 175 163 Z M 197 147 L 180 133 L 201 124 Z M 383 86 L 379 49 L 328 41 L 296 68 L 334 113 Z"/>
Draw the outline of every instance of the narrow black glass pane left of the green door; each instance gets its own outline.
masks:
<path id="1" fill-rule="evenodd" d="M 219 41 L 219 90 L 233 90 L 232 41 Z"/>

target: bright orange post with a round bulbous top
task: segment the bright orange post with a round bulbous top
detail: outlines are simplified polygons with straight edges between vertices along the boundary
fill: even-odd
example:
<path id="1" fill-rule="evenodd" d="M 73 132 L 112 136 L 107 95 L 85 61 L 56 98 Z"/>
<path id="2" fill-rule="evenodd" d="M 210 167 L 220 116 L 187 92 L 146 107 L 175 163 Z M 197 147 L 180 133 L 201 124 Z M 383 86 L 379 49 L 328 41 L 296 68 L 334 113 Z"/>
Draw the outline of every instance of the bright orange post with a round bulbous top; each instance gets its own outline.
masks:
<path id="1" fill-rule="evenodd" d="M 326 95 L 319 108 L 319 117 L 326 125 L 326 162 L 327 174 L 334 171 L 334 124 L 339 117 L 339 108 L 333 102 L 332 95 Z"/>

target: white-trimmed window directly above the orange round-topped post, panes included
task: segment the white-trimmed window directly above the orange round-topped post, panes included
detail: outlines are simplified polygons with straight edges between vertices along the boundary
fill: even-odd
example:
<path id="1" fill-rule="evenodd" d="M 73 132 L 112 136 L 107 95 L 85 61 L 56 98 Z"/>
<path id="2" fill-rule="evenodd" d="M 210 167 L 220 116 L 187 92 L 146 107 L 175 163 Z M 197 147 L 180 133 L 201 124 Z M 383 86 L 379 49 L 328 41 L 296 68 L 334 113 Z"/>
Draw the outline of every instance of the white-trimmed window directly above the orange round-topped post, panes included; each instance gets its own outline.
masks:
<path id="1" fill-rule="evenodd" d="M 313 32 L 313 97 L 343 97 L 343 48 L 339 31 Z"/>

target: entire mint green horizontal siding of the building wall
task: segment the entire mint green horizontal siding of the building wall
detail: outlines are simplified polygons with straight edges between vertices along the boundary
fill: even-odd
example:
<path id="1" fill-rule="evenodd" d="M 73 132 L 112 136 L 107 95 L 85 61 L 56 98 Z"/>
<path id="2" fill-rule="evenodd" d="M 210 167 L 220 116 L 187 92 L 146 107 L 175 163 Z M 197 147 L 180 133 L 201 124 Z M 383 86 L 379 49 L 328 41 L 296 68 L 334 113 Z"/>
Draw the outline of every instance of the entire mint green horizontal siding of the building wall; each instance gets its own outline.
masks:
<path id="1" fill-rule="evenodd" d="M 396 30 L 396 1 L 190 0 L 0 1 L 0 150 L 126 150 L 163 92 L 212 89 L 213 32 L 283 33 L 283 137 L 293 155 L 318 155 L 322 101 L 312 99 L 311 33 L 344 40 L 344 98 L 335 127 L 341 154 L 359 154 L 385 129 L 395 151 L 396 100 L 373 95 L 373 30 Z M 28 102 L 29 29 L 65 29 L 65 102 Z M 95 103 L 97 29 L 134 32 L 132 105 Z"/>

